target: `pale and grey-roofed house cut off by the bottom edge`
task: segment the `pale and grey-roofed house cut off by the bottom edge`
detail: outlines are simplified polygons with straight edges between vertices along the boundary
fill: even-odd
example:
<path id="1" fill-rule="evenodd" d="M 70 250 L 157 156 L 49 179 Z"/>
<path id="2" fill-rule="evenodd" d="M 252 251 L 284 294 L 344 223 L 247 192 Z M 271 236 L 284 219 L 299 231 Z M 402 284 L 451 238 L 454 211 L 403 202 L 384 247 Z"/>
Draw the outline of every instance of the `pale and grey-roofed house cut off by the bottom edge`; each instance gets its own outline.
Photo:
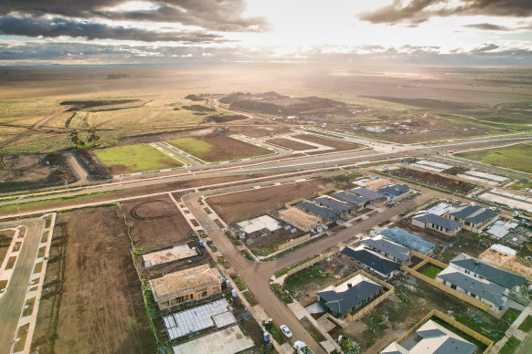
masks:
<path id="1" fill-rule="evenodd" d="M 400 343 L 392 342 L 381 354 L 473 354 L 476 346 L 429 319 Z"/>

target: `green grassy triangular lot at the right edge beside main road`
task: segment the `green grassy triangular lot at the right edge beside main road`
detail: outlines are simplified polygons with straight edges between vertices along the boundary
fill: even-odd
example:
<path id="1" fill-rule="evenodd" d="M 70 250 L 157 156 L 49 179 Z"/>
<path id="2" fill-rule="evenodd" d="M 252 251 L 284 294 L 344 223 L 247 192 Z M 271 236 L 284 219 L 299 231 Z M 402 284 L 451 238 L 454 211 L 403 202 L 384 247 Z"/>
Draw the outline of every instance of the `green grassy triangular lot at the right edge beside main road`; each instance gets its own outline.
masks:
<path id="1" fill-rule="evenodd" d="M 530 154 L 532 154 L 532 144 L 516 144 L 506 148 L 461 152 L 457 153 L 456 156 L 489 163 L 494 166 L 532 173 Z"/>

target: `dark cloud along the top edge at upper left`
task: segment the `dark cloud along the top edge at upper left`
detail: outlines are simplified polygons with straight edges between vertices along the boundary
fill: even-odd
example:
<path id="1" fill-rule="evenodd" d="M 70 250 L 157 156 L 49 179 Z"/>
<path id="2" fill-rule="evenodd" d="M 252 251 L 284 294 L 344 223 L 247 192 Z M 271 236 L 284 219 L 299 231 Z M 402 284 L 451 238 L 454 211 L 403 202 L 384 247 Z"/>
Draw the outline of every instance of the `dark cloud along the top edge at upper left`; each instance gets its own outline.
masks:
<path id="1" fill-rule="evenodd" d="M 266 27 L 263 18 L 242 16 L 246 9 L 244 0 L 146 0 L 154 9 L 109 10 L 128 2 L 129 0 L 3 0 L 0 14 L 170 22 L 218 31 L 256 31 Z"/>

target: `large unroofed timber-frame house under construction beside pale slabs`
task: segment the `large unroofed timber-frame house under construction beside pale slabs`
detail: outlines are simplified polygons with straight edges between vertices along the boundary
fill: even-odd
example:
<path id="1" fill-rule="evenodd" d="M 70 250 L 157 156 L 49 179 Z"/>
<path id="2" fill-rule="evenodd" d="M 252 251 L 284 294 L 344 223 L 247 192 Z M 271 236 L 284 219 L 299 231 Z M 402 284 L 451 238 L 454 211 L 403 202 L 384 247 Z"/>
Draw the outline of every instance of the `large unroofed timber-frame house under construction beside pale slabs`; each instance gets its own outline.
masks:
<path id="1" fill-rule="evenodd" d="M 150 280 L 154 299 L 164 309 L 221 293 L 218 269 L 198 265 Z"/>

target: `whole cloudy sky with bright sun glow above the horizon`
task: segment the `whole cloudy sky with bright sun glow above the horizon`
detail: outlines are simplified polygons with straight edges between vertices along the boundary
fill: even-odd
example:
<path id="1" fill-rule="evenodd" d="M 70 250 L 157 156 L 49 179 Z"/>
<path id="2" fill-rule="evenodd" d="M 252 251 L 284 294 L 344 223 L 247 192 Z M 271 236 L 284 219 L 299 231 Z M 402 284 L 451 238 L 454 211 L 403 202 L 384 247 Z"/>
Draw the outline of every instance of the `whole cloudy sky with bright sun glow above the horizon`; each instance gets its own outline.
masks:
<path id="1" fill-rule="evenodd" d="M 532 65 L 532 0 L 2 0 L 0 66 Z"/>

